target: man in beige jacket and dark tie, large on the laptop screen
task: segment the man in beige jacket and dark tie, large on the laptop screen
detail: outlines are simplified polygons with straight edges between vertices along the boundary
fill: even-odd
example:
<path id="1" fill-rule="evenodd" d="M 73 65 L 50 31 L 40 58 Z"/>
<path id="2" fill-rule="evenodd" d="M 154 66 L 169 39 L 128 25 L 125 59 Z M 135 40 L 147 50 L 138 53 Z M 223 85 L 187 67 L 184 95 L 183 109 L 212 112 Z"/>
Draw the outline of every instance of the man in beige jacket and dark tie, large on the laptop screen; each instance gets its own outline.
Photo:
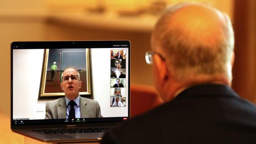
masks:
<path id="1" fill-rule="evenodd" d="M 78 70 L 67 68 L 61 78 L 65 97 L 46 103 L 45 119 L 102 117 L 97 101 L 79 95 L 82 81 Z"/>

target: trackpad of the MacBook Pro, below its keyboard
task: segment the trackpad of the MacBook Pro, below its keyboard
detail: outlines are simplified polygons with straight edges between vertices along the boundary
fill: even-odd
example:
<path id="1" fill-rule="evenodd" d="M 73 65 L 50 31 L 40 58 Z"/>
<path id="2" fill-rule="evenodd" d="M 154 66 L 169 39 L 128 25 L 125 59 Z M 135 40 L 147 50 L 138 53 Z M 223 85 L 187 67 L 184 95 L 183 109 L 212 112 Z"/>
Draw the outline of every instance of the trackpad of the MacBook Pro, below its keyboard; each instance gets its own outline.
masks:
<path id="1" fill-rule="evenodd" d="M 98 138 L 102 138 L 102 136 L 104 135 L 104 133 L 67 133 L 64 135 L 68 135 L 74 138 L 78 138 L 78 139 L 98 139 Z"/>

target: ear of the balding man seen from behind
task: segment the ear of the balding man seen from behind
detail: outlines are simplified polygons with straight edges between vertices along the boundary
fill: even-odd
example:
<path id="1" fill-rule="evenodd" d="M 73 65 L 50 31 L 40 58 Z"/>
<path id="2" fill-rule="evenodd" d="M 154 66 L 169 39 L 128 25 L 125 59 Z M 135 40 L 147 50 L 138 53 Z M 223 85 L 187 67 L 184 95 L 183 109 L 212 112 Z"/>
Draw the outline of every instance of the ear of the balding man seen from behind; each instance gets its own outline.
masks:
<path id="1" fill-rule="evenodd" d="M 154 54 L 153 63 L 155 65 L 156 71 L 159 75 L 161 81 L 166 81 L 169 78 L 169 71 L 167 68 L 167 63 L 164 61 L 160 55 Z"/>

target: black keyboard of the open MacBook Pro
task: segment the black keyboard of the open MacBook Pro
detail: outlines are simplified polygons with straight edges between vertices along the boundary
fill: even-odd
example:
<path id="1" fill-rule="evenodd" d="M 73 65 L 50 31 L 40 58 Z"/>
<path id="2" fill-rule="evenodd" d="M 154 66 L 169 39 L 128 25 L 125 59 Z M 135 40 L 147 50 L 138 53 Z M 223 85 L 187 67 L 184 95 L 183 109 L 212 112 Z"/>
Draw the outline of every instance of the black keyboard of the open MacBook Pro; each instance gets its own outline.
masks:
<path id="1" fill-rule="evenodd" d="M 69 128 L 69 129 L 31 129 L 40 134 L 53 133 L 104 133 L 111 127 L 87 127 L 87 128 Z"/>

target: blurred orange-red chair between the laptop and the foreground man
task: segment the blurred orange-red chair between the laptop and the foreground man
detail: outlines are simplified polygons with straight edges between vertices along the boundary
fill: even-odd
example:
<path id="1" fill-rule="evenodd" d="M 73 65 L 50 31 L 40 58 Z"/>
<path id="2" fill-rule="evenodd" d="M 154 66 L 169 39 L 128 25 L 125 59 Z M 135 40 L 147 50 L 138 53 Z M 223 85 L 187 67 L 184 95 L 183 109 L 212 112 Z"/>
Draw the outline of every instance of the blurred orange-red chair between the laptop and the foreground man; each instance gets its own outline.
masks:
<path id="1" fill-rule="evenodd" d="M 130 114 L 131 117 L 145 113 L 162 103 L 154 87 L 131 85 Z"/>

